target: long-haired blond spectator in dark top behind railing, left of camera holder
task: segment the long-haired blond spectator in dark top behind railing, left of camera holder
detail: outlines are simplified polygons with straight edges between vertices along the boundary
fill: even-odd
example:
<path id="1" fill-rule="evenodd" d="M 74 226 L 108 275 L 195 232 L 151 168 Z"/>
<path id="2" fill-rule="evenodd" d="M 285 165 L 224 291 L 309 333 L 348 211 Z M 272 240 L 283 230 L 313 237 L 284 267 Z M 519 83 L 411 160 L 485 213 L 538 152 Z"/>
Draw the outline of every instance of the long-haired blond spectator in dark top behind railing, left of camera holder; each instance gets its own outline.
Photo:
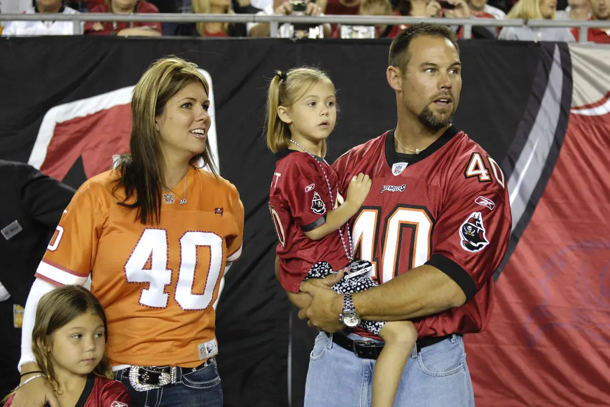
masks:
<path id="1" fill-rule="evenodd" d="M 197 14 L 234 14 L 231 0 L 193 0 L 193 13 Z M 245 37 L 245 24 L 235 23 L 196 23 L 180 24 L 176 35 L 201 37 Z"/>

